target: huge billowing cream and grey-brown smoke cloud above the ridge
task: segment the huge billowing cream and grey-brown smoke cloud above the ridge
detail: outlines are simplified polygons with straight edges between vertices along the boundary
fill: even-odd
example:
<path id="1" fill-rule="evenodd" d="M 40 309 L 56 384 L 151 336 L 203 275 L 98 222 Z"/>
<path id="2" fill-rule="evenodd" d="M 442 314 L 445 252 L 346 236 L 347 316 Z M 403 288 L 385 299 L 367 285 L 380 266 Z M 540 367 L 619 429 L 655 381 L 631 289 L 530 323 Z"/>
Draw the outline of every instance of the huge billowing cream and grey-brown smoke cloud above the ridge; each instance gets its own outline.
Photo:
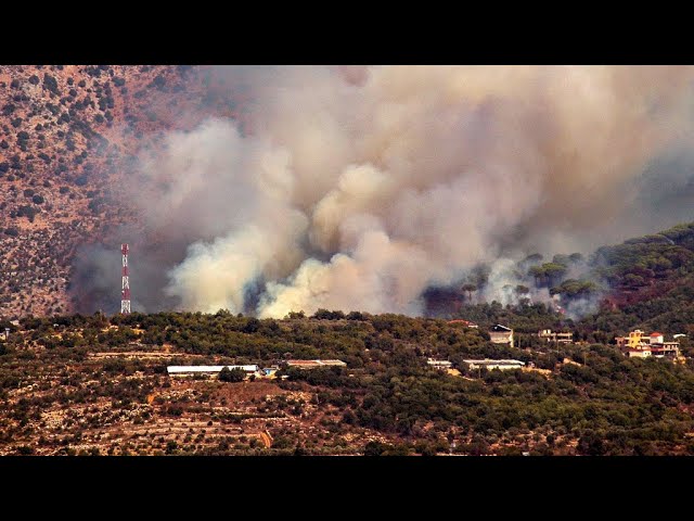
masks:
<path id="1" fill-rule="evenodd" d="M 694 67 L 216 74 L 249 86 L 253 132 L 210 118 L 139 173 L 145 225 L 176 252 L 151 291 L 183 309 L 419 314 L 480 262 L 652 231 L 633 187 L 692 143 Z"/>

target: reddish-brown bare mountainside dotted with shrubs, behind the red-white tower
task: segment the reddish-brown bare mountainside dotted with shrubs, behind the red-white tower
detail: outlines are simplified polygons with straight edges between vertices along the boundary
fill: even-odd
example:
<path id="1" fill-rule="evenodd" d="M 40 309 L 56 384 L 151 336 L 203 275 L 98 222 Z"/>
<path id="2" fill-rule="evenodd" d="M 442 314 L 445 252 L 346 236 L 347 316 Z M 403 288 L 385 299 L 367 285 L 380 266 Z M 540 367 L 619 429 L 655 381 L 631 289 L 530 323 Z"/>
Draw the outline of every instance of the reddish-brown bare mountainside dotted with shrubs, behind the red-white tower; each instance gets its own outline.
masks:
<path id="1" fill-rule="evenodd" d="M 76 250 L 141 228 L 138 152 L 210 112 L 237 116 L 216 88 L 200 67 L 0 66 L 0 316 L 74 308 Z"/>

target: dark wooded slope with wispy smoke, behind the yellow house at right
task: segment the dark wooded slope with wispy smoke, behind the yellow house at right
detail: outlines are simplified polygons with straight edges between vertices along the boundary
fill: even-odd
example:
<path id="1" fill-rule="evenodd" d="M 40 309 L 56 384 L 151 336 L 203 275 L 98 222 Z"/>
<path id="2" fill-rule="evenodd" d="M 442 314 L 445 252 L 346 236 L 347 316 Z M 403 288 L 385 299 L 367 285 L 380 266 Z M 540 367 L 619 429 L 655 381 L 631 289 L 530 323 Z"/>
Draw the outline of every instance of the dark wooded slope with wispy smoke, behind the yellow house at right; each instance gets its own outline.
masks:
<path id="1" fill-rule="evenodd" d="M 516 293 L 517 305 L 475 303 L 468 293 L 485 290 L 483 272 L 474 284 L 428 292 L 429 313 L 484 327 L 507 323 L 523 332 L 569 327 L 579 339 L 596 342 L 607 342 L 605 333 L 614 336 L 633 328 L 694 334 L 694 224 L 602 246 L 581 262 L 580 279 L 568 278 L 566 255 L 555 255 L 551 263 L 541 264 L 540 255 L 534 260 L 517 265 L 519 285 L 510 289 L 522 292 Z M 548 276 L 552 270 L 556 275 Z M 524 298 L 541 290 L 549 290 L 553 300 Z M 569 317 L 560 304 L 581 306 L 583 313 Z"/>

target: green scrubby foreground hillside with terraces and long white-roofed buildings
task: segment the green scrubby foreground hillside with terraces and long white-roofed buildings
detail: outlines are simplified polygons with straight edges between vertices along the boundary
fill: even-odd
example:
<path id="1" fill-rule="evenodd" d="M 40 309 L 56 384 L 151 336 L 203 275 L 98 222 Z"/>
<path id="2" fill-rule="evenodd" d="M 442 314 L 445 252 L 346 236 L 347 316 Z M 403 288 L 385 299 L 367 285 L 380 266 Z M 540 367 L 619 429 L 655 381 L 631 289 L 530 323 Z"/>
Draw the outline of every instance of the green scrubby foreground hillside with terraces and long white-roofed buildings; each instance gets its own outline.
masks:
<path id="1" fill-rule="evenodd" d="M 460 323 L 339 312 L 285 320 L 95 314 L 5 326 L 0 454 L 694 454 L 691 359 L 629 359 L 613 346 L 537 338 L 519 350 Z M 429 357 L 460 372 L 433 369 Z M 464 361 L 484 357 L 535 367 L 472 370 Z M 292 358 L 346 367 L 286 368 Z M 167 365 L 191 364 L 277 364 L 286 379 L 167 374 Z"/>

